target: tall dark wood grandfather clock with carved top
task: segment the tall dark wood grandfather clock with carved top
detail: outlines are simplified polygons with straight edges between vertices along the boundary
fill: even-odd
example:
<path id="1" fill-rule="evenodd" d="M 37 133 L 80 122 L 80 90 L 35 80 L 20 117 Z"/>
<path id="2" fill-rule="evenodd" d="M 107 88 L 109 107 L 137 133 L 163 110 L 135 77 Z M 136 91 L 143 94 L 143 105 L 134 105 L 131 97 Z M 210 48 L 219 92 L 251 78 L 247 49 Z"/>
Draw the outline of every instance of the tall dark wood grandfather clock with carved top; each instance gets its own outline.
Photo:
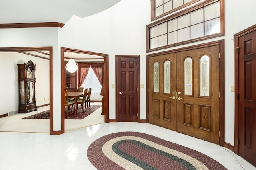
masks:
<path id="1" fill-rule="evenodd" d="M 37 110 L 35 91 L 36 64 L 33 61 L 18 65 L 19 110 L 18 113 L 28 113 Z"/>

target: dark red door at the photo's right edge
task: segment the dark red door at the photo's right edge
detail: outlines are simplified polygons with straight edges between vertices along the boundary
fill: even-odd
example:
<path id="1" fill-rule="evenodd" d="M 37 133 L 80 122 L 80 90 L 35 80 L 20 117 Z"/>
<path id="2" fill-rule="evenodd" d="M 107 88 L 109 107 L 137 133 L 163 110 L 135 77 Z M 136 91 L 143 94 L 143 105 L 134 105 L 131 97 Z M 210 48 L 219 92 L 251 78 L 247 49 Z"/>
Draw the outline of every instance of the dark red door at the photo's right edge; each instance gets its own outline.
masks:
<path id="1" fill-rule="evenodd" d="M 256 166 L 256 31 L 239 38 L 239 155 Z"/>

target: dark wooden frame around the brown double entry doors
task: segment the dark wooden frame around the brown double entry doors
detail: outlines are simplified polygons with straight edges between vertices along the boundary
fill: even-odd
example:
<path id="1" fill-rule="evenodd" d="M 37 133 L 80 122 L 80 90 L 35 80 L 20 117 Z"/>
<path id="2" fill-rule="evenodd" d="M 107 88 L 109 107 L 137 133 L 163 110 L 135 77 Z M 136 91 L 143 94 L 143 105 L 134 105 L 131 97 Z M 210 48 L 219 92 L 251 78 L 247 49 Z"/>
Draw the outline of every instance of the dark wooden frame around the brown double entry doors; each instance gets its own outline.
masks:
<path id="1" fill-rule="evenodd" d="M 234 150 L 232 148 L 232 145 L 225 143 L 225 54 L 224 54 L 224 39 L 219 41 L 213 41 L 209 43 L 203 43 L 198 45 L 193 45 L 189 47 L 169 50 L 169 51 L 163 51 L 159 53 L 153 53 L 146 55 L 146 88 L 149 89 L 149 80 L 148 80 L 148 58 L 154 57 L 158 55 L 164 55 L 168 53 L 177 53 L 181 51 L 186 50 L 192 50 L 192 49 L 199 49 L 202 47 L 209 47 L 214 45 L 219 45 L 220 47 L 220 146 L 225 146 L 229 148 L 230 150 Z M 146 122 L 148 123 L 148 92 L 146 93 Z"/>

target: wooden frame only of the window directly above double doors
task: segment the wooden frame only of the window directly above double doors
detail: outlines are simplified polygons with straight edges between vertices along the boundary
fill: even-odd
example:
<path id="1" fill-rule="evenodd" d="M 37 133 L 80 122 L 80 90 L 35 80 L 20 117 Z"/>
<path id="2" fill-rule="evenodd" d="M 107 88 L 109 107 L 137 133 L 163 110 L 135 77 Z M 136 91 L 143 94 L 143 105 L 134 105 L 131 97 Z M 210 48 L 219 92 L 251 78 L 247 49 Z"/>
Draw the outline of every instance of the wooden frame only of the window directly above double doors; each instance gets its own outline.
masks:
<path id="1" fill-rule="evenodd" d="M 189 14 L 190 12 L 194 12 L 196 10 L 199 10 L 200 8 L 203 8 L 205 6 L 208 6 L 210 4 L 214 4 L 216 2 L 220 3 L 220 33 L 215 33 L 212 35 L 206 35 L 203 37 L 199 37 L 199 38 L 195 38 L 195 39 L 189 39 L 186 41 L 182 41 L 182 42 L 178 42 L 178 43 L 174 43 L 174 44 L 170 44 L 170 45 L 165 45 L 165 46 L 161 46 L 161 47 L 156 47 L 154 49 L 150 49 L 150 28 L 155 27 L 157 25 L 160 25 L 164 22 L 173 20 L 175 18 L 178 18 L 180 16 Z M 198 42 L 198 41 L 202 41 L 205 39 L 211 39 L 211 38 L 215 38 L 215 37 L 220 37 L 220 36 L 224 36 L 225 35 L 225 16 L 224 16 L 224 0 L 206 0 L 204 2 L 201 2 L 200 4 L 197 4 L 196 6 L 192 6 L 186 10 L 180 11 L 176 14 L 173 14 L 171 16 L 168 16 L 166 18 L 163 18 L 162 20 L 156 21 L 154 23 L 151 23 L 149 25 L 146 25 L 146 53 L 151 52 L 151 51 L 157 51 L 160 49 L 166 49 L 166 48 L 170 48 L 170 47 L 175 47 L 175 46 L 179 46 L 179 45 L 184 45 L 184 44 L 188 44 L 188 43 L 194 43 L 194 42 Z M 191 26 L 191 25 L 190 25 Z"/>

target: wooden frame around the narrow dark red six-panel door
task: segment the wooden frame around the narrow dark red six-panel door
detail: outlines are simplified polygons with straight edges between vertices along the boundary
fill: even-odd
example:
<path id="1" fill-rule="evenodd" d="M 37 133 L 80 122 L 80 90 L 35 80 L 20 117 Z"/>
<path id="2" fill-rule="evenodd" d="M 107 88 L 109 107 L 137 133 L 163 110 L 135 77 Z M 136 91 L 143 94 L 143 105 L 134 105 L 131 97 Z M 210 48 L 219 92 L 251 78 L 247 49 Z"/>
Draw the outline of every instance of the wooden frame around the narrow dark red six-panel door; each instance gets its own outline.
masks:
<path id="1" fill-rule="evenodd" d="M 139 63 L 138 66 L 137 66 L 137 87 L 138 87 L 138 117 L 137 117 L 137 122 L 140 122 L 140 55 L 116 55 L 116 67 L 115 69 L 117 70 L 117 67 L 118 67 L 118 58 L 134 58 L 134 57 L 137 57 L 137 62 Z M 117 89 L 117 85 L 118 85 L 118 74 L 117 74 L 117 71 L 116 71 L 116 84 L 115 84 L 115 87 L 116 87 L 116 122 L 118 122 L 118 89 Z"/>

